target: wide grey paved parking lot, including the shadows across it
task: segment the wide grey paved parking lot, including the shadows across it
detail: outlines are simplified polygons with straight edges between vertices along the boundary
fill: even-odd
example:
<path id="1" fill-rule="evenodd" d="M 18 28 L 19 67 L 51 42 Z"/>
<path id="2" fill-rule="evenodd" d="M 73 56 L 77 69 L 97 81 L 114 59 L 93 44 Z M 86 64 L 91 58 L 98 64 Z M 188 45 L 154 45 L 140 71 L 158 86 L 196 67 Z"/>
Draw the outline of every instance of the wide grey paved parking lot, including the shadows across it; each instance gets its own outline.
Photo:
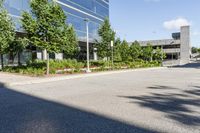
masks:
<path id="1" fill-rule="evenodd" d="M 199 133 L 198 66 L 0 89 L 1 133 Z"/>

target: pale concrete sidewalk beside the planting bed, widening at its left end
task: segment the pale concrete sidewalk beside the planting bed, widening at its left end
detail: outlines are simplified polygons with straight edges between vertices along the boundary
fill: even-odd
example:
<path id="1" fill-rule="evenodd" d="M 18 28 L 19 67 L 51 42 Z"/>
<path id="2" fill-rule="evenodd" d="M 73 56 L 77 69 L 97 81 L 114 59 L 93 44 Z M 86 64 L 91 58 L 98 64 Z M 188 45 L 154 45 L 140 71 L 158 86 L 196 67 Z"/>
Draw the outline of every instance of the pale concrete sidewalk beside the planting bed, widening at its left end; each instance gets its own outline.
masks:
<path id="1" fill-rule="evenodd" d="M 0 72 L 0 86 L 16 86 L 16 85 L 29 85 L 29 84 L 37 84 L 37 83 L 48 83 L 48 82 L 56 82 L 56 81 L 62 81 L 62 80 L 68 80 L 68 79 L 85 78 L 85 77 L 101 76 L 101 75 L 116 74 L 116 73 L 126 73 L 126 72 L 133 72 L 133 71 L 164 69 L 164 68 L 165 67 L 140 68 L 140 69 L 130 69 L 130 70 L 96 72 L 96 73 L 88 73 L 88 74 L 61 75 L 61 76 L 55 76 L 55 77 L 30 77 L 30 76 Z"/>

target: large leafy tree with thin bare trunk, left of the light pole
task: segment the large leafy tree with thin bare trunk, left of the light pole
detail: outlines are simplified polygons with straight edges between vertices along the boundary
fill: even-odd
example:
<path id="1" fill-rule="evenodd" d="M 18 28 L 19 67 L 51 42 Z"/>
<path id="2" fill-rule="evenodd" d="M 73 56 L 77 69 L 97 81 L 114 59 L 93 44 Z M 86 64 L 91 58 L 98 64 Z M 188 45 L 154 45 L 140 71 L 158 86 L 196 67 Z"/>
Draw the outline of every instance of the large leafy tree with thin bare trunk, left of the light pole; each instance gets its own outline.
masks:
<path id="1" fill-rule="evenodd" d="M 66 16 L 54 0 L 31 0 L 31 13 L 24 12 L 22 26 L 30 43 L 47 51 L 47 74 L 49 74 L 49 53 L 58 53 L 63 40 Z"/>

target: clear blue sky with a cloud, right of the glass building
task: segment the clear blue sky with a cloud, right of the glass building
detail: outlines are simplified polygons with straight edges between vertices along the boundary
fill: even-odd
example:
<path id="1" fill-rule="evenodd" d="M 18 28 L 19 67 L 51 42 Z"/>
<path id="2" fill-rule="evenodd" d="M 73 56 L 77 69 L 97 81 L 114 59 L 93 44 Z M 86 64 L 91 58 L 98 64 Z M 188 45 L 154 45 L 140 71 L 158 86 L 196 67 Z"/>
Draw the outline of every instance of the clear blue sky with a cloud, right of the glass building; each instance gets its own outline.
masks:
<path id="1" fill-rule="evenodd" d="M 110 20 L 127 41 L 169 39 L 191 25 L 192 46 L 200 47 L 200 0 L 110 0 Z"/>

